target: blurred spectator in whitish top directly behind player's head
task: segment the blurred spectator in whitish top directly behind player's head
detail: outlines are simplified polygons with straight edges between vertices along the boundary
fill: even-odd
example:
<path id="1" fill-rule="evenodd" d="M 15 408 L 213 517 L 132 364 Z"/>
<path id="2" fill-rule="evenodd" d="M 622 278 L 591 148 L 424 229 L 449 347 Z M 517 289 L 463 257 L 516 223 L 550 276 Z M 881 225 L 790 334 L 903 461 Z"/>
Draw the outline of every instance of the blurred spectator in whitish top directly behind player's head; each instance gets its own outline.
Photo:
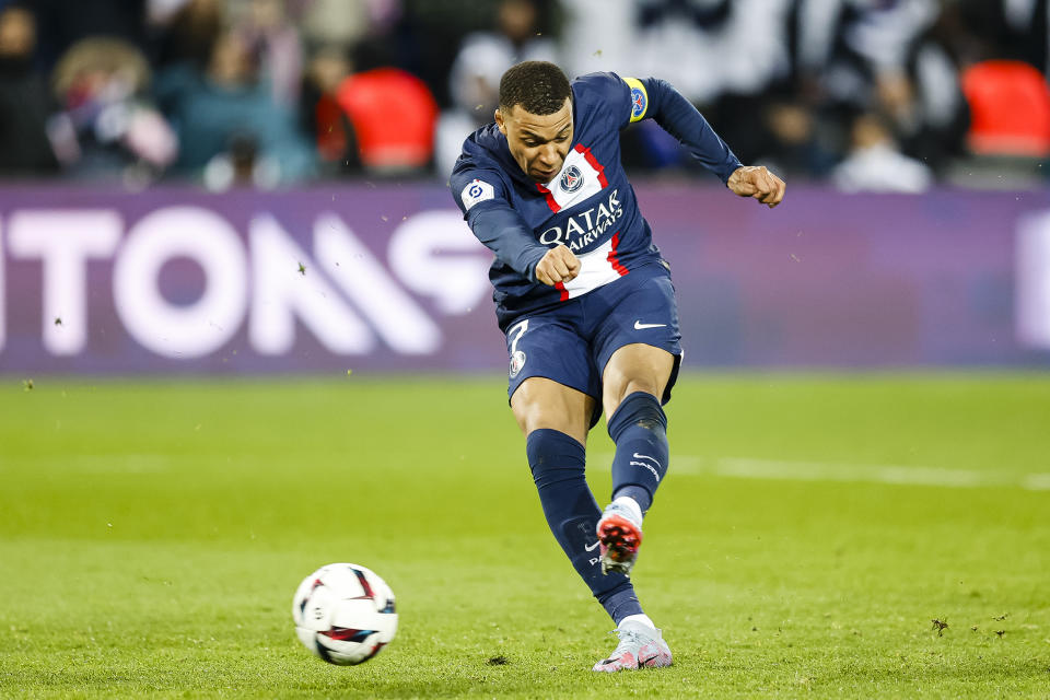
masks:
<path id="1" fill-rule="evenodd" d="M 452 65 L 448 94 L 452 107 L 441 114 L 435 135 L 438 172 L 445 176 L 463 149 L 463 140 L 492 121 L 500 101 L 500 78 L 514 63 L 558 62 L 558 47 L 538 27 L 536 5 L 528 0 L 503 0 L 492 32 L 468 35 Z"/>

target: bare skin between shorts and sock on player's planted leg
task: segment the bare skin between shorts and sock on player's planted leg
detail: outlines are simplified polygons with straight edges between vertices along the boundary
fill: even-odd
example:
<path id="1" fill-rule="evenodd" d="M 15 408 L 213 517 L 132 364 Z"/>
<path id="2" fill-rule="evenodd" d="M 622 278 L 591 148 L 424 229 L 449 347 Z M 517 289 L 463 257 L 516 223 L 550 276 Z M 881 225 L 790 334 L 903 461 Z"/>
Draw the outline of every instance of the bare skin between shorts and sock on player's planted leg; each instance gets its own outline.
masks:
<path id="1" fill-rule="evenodd" d="M 593 396 L 541 376 L 522 382 L 511 397 L 511 410 L 526 435 L 547 428 L 565 433 L 584 445 L 597 405 Z"/>

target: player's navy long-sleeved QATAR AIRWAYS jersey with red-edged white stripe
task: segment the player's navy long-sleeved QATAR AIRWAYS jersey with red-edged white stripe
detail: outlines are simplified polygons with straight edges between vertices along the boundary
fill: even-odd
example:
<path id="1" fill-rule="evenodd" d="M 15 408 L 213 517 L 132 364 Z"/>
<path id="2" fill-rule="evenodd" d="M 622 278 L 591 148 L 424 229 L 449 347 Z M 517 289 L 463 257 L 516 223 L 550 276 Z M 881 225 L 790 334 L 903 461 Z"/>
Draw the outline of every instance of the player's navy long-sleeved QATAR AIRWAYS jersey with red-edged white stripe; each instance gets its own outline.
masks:
<path id="1" fill-rule="evenodd" d="M 620 130 L 652 117 L 723 182 L 740 163 L 707 120 L 662 80 L 592 73 L 572 82 L 573 141 L 561 171 L 546 185 L 514 161 L 495 124 L 463 145 L 450 185 L 475 235 L 495 253 L 489 270 L 500 327 L 524 313 L 557 306 L 660 262 L 660 250 L 620 164 Z M 579 276 L 556 287 L 536 279 L 536 265 L 563 244 L 580 259 Z"/>

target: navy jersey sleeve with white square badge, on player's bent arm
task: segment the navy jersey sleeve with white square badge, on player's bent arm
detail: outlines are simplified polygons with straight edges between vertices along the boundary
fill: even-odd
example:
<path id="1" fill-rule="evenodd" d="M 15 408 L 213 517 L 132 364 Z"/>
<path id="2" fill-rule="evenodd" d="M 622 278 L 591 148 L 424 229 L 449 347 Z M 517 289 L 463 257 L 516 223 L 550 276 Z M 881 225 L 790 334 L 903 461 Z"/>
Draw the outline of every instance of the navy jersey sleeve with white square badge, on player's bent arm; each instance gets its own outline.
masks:
<path id="1" fill-rule="evenodd" d="M 460 159 L 448 184 L 475 237 L 501 262 L 525 279 L 537 281 L 536 265 L 549 248 L 536 240 L 511 206 L 499 173 Z"/>

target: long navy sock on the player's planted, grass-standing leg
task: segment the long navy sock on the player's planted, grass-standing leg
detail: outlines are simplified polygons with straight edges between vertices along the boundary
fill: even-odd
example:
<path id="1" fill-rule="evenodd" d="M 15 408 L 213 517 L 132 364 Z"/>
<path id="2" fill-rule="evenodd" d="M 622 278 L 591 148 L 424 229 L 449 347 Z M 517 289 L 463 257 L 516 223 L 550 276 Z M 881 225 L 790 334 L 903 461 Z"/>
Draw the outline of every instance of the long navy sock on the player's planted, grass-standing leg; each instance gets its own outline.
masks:
<path id="1" fill-rule="evenodd" d="M 641 614 L 630 579 L 602 573 L 595 535 L 602 511 L 584 474 L 584 446 L 562 432 L 541 428 L 528 434 L 525 453 L 547 524 L 576 573 L 617 625 L 628 615 Z"/>

